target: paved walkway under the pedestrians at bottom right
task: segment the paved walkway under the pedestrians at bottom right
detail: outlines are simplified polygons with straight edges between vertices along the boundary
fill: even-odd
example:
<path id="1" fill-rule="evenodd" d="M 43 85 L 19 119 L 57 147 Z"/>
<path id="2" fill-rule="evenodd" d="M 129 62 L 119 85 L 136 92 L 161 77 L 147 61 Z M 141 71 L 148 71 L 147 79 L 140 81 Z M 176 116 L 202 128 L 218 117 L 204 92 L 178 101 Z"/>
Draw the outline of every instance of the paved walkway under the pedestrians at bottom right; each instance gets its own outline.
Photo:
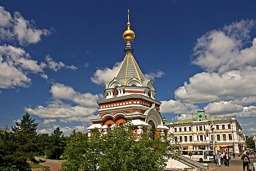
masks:
<path id="1" fill-rule="evenodd" d="M 242 156 L 241 156 L 242 157 Z M 225 165 L 221 165 L 221 167 L 215 165 L 214 163 L 209 163 L 210 170 L 214 171 L 221 171 L 221 170 L 227 170 L 227 171 L 243 171 L 243 161 L 241 160 L 241 157 L 231 158 L 229 167 Z M 256 163 L 255 159 L 251 159 L 251 164 Z"/>

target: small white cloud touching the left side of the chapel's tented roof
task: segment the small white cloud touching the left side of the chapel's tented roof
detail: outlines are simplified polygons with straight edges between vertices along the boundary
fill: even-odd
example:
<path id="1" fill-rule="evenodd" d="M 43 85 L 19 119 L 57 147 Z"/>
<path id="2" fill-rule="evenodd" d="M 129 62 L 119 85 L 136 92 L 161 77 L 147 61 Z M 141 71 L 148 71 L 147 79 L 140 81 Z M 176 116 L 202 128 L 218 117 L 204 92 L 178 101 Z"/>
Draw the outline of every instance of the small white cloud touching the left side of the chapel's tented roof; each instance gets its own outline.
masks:
<path id="1" fill-rule="evenodd" d="M 112 69 L 109 69 L 108 67 L 98 69 L 95 73 L 93 73 L 91 81 L 98 85 L 105 84 L 105 82 L 110 82 L 116 76 L 121 64 L 121 62 L 117 62 Z"/>

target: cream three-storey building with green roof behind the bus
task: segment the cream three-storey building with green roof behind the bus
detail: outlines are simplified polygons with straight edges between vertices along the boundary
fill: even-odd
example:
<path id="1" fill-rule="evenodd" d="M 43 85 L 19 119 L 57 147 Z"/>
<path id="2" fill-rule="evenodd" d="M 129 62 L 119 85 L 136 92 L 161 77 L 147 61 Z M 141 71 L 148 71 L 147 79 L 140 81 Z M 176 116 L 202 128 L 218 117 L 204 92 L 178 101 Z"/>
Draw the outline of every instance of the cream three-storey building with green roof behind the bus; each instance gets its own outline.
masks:
<path id="1" fill-rule="evenodd" d="M 245 135 L 235 116 L 207 118 L 201 110 L 193 119 L 175 121 L 167 126 L 183 150 L 215 149 L 215 152 L 242 153 L 245 145 Z"/>

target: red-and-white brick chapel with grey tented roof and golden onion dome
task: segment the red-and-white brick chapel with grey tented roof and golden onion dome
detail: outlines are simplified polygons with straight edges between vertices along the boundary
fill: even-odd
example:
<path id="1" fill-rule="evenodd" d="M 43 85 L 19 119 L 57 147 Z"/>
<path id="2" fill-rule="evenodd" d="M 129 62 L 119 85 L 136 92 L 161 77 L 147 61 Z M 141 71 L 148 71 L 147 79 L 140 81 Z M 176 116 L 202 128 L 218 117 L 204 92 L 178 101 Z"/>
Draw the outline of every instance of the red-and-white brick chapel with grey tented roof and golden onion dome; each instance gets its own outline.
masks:
<path id="1" fill-rule="evenodd" d="M 127 30 L 123 33 L 125 57 L 115 78 L 105 83 L 105 99 L 98 100 L 99 118 L 91 119 L 93 124 L 87 129 L 97 128 L 105 134 L 115 125 L 131 121 L 137 135 L 144 129 L 167 135 L 169 128 L 160 113 L 161 102 L 155 99 L 154 85 L 145 78 L 133 57 L 135 33 L 130 26 L 128 10 Z"/>

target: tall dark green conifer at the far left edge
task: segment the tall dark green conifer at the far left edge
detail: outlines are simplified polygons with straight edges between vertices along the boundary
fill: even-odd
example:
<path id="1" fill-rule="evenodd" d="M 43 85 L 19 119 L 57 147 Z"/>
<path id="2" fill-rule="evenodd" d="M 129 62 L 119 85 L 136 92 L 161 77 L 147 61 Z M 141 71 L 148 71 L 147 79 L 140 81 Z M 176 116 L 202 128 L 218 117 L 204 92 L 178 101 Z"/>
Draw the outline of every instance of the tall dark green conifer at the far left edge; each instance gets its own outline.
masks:
<path id="1" fill-rule="evenodd" d="M 15 124 L 11 132 L 0 135 L 0 170 L 30 170 L 28 160 L 35 161 L 38 153 L 35 119 L 27 113 Z"/>

